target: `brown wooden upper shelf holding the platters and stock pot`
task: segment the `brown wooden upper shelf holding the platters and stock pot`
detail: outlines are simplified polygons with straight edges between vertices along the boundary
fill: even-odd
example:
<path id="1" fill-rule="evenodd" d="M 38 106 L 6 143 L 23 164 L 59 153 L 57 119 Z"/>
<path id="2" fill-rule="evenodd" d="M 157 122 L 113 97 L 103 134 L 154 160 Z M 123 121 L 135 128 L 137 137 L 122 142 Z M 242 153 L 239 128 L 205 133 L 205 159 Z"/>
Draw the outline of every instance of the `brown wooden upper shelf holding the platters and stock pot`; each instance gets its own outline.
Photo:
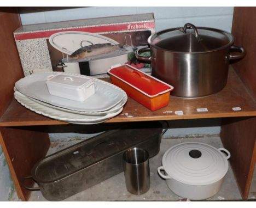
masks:
<path id="1" fill-rule="evenodd" d="M 232 108 L 240 107 L 241 111 Z M 207 108 L 207 112 L 197 112 L 197 108 Z M 183 111 L 183 115 L 175 114 Z M 249 95 L 240 78 L 233 69 L 229 70 L 226 87 L 216 94 L 196 98 L 183 99 L 170 97 L 168 106 L 152 112 L 135 100 L 129 99 L 117 117 L 109 119 L 107 123 L 129 121 L 201 119 L 224 117 L 256 116 L 256 102 Z M 0 118 L 0 126 L 34 126 L 67 124 L 34 113 L 13 100 L 7 111 Z"/>

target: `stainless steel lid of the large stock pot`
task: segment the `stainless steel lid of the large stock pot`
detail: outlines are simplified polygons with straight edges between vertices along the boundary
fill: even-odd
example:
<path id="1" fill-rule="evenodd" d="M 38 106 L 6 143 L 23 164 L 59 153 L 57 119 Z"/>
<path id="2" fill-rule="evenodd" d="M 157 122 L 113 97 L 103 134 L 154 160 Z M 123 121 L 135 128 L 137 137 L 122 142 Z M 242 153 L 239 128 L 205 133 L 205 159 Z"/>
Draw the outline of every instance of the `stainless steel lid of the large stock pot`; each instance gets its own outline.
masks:
<path id="1" fill-rule="evenodd" d="M 232 34 L 223 30 L 195 27 L 186 23 L 183 28 L 162 30 L 149 37 L 150 45 L 167 51 L 198 53 L 220 50 L 233 44 Z"/>

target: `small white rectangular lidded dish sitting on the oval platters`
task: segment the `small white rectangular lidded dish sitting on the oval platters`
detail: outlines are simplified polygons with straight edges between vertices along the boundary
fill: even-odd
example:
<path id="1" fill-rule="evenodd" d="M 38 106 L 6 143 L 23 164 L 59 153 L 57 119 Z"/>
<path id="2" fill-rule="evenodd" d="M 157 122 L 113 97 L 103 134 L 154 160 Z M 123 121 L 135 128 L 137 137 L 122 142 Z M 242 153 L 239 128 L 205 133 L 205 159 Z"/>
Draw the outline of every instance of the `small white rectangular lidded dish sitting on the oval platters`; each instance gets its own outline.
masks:
<path id="1" fill-rule="evenodd" d="M 95 93 L 94 81 L 89 77 L 57 74 L 46 80 L 51 95 L 83 102 Z"/>

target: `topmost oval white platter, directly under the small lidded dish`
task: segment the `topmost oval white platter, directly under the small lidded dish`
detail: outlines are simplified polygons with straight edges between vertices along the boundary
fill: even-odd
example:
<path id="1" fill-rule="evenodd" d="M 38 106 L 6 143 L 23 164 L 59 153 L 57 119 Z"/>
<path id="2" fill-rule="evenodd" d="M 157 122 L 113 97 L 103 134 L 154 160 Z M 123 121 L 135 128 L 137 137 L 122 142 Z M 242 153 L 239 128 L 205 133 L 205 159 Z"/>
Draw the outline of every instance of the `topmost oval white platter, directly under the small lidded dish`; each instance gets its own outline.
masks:
<path id="1" fill-rule="evenodd" d="M 83 102 L 50 95 L 45 82 L 50 75 L 55 75 L 56 73 L 63 72 L 42 72 L 28 75 L 16 82 L 15 88 L 28 97 L 49 103 L 50 105 L 84 112 L 108 111 L 118 105 L 127 96 L 121 88 L 93 77 L 90 78 L 94 79 L 95 94 Z"/>

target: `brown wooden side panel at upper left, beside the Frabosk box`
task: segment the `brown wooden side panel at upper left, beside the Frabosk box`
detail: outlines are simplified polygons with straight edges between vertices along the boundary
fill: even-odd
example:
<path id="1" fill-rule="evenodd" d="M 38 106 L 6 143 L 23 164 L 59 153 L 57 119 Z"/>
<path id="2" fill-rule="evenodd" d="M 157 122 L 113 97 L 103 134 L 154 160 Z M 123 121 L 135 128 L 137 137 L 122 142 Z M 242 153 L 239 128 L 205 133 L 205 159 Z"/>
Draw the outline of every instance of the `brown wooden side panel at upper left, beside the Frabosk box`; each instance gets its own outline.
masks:
<path id="1" fill-rule="evenodd" d="M 0 116 L 13 98 L 14 83 L 24 76 L 13 35 L 20 26 L 17 8 L 0 8 Z"/>

